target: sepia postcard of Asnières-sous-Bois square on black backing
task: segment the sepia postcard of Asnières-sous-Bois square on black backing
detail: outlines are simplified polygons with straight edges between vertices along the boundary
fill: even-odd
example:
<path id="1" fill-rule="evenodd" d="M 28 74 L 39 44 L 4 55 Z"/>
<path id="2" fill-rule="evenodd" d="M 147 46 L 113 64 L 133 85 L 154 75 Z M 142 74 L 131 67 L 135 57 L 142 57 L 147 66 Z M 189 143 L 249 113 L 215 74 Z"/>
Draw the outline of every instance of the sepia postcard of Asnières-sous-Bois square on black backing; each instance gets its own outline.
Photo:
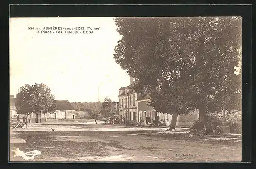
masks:
<path id="1" fill-rule="evenodd" d="M 241 162 L 242 17 L 11 17 L 9 162 Z"/>

